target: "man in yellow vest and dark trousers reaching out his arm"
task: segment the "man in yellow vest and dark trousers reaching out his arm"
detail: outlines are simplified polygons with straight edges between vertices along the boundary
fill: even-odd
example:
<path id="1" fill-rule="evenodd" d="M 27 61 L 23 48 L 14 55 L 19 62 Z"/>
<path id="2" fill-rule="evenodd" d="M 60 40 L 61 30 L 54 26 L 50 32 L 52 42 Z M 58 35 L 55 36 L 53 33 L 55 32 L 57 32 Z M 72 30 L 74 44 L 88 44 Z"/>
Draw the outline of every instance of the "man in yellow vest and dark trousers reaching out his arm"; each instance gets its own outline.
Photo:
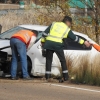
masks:
<path id="1" fill-rule="evenodd" d="M 63 39 L 71 38 L 73 41 L 76 41 L 79 44 L 85 44 L 87 47 L 91 45 L 88 41 L 84 41 L 71 31 L 71 23 L 72 18 L 65 16 L 62 22 L 52 23 L 43 33 L 41 42 L 44 44 L 43 48 L 46 49 L 45 77 L 47 80 L 51 78 L 51 64 L 54 52 L 60 59 L 64 81 L 67 81 L 69 78 L 66 59 L 63 52 Z"/>

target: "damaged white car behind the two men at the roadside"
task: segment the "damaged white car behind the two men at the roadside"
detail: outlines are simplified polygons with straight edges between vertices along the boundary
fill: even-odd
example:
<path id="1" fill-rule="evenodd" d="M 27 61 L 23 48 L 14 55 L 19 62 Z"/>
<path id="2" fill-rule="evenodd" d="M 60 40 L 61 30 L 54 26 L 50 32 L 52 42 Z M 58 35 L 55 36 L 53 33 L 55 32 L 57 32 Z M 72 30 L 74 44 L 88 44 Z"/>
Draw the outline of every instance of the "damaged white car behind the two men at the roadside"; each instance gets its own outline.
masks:
<path id="1" fill-rule="evenodd" d="M 42 56 L 41 48 L 41 37 L 42 32 L 47 28 L 47 26 L 41 25 L 19 25 L 14 27 L 6 32 L 3 32 L 0 35 L 0 69 L 4 73 L 10 74 L 10 64 L 11 64 L 11 48 L 10 48 L 10 37 L 19 30 L 30 29 L 38 32 L 37 40 L 31 49 L 27 52 L 28 60 L 28 71 L 31 75 L 34 76 L 44 76 L 45 75 L 45 57 Z M 92 43 L 95 43 L 87 35 L 74 32 L 77 36 L 82 37 L 85 40 L 89 40 Z M 67 40 L 67 46 L 65 47 L 64 53 L 67 57 L 68 55 L 72 56 L 74 59 L 77 55 L 82 56 L 82 54 L 87 54 L 93 52 L 93 55 L 98 53 L 94 48 L 86 48 L 83 45 L 80 45 L 72 40 Z M 95 53 L 94 53 L 95 52 Z M 92 56 L 93 56 L 92 55 Z M 53 56 L 52 62 L 52 74 L 55 76 L 60 76 L 60 62 L 56 54 Z M 20 61 L 18 61 L 18 73 L 21 72 Z"/>

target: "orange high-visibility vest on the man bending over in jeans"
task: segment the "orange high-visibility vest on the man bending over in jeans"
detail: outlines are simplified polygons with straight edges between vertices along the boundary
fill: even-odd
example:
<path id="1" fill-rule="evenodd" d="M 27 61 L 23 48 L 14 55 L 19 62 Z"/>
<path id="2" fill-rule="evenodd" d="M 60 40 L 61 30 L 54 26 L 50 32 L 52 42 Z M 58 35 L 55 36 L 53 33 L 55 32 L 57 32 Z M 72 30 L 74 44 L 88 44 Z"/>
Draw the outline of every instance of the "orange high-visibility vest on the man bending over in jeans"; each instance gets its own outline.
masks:
<path id="1" fill-rule="evenodd" d="M 18 38 L 22 40 L 25 44 L 29 43 L 32 36 L 35 36 L 35 34 L 29 30 L 21 30 L 17 33 L 15 33 L 12 38 Z"/>

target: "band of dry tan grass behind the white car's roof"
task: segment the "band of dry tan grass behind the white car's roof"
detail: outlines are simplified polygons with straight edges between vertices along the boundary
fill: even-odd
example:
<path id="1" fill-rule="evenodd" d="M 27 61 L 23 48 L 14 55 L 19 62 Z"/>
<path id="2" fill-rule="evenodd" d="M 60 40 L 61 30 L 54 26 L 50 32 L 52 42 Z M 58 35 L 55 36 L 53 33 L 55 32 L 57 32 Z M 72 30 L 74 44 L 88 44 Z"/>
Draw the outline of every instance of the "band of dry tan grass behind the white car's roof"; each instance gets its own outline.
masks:
<path id="1" fill-rule="evenodd" d="M 7 15 L 0 16 L 0 24 L 3 26 L 3 32 L 21 24 L 50 25 L 51 22 L 62 18 L 63 14 L 55 10 L 32 9 L 25 10 L 23 14 L 16 15 L 16 12 L 9 12 Z"/>

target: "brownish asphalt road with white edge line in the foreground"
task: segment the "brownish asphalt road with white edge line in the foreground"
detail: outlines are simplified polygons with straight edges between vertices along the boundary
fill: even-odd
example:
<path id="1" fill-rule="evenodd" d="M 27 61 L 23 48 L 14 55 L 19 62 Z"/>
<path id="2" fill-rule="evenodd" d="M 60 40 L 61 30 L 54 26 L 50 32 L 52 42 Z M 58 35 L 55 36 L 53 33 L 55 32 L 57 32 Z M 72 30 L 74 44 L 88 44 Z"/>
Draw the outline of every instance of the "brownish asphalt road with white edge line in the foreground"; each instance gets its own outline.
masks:
<path id="1" fill-rule="evenodd" d="M 0 100 L 100 100 L 100 87 L 41 80 L 0 80 Z"/>

